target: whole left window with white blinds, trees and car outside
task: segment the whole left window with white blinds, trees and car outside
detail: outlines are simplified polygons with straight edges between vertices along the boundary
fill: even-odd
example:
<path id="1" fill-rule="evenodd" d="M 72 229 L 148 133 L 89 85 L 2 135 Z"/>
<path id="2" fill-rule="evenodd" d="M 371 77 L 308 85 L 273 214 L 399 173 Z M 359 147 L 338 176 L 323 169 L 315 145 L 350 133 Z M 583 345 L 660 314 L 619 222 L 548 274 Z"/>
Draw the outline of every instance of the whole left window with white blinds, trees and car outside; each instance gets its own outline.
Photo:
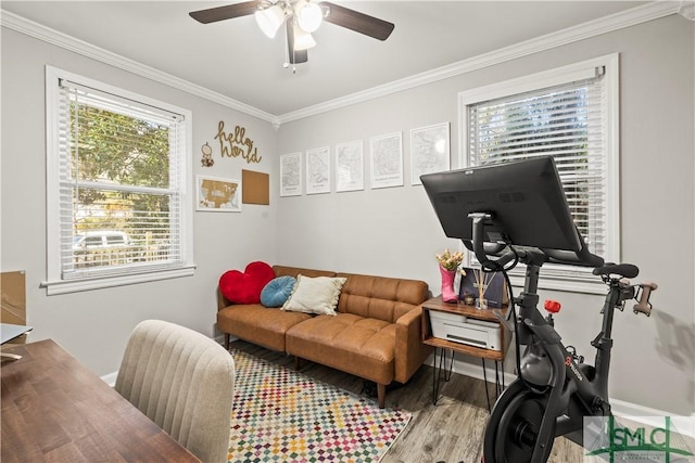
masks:
<path id="1" fill-rule="evenodd" d="M 47 67 L 48 294 L 193 272 L 190 112 Z"/>

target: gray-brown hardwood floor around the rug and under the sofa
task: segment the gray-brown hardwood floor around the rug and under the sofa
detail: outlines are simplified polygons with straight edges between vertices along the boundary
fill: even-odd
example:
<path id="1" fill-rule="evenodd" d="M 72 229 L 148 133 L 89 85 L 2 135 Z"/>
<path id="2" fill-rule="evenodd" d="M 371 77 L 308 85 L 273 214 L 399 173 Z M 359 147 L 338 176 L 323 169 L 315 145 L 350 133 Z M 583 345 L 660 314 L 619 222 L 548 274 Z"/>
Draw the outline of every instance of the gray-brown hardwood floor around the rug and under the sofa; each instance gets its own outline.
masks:
<path id="1" fill-rule="evenodd" d="M 243 340 L 231 343 L 231 348 L 294 368 L 294 359 L 282 352 Z M 308 361 L 301 363 L 300 371 L 353 394 L 364 393 L 365 384 L 359 377 Z M 494 387 L 491 385 L 489 390 L 491 400 L 494 400 Z M 488 402 L 482 381 L 454 373 L 448 382 L 442 381 L 440 398 L 434 406 L 432 368 L 422 365 L 406 385 L 388 391 L 387 407 L 407 410 L 413 413 L 413 419 L 381 460 L 383 463 L 480 462 L 488 421 Z M 559 437 L 555 440 L 548 462 L 581 463 L 582 455 L 583 449 L 580 446 Z"/>

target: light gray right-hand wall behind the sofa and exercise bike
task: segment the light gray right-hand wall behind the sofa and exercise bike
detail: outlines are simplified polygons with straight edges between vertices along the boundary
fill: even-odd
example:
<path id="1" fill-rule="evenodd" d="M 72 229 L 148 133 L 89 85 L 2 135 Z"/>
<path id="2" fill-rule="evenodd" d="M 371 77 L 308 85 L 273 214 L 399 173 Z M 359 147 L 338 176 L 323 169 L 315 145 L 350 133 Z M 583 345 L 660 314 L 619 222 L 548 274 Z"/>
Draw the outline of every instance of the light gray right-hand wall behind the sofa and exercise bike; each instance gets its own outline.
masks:
<path id="1" fill-rule="evenodd" d="M 405 185 L 370 190 L 367 181 L 356 193 L 333 188 L 330 194 L 279 198 L 279 261 L 422 279 L 439 294 L 434 254 L 457 244 L 444 236 L 422 188 L 410 185 L 409 130 L 450 121 L 452 167 L 457 167 L 459 91 L 619 52 L 622 260 L 637 265 L 637 280 L 656 281 L 659 290 L 652 318 L 629 310 L 616 316 L 610 395 L 690 415 L 695 410 L 693 39 L 694 24 L 673 15 L 282 126 L 282 153 L 356 139 L 368 153 L 370 137 L 402 131 Z M 589 343 L 599 331 L 603 297 L 549 291 L 541 297 L 563 303 L 559 333 L 593 360 Z"/>

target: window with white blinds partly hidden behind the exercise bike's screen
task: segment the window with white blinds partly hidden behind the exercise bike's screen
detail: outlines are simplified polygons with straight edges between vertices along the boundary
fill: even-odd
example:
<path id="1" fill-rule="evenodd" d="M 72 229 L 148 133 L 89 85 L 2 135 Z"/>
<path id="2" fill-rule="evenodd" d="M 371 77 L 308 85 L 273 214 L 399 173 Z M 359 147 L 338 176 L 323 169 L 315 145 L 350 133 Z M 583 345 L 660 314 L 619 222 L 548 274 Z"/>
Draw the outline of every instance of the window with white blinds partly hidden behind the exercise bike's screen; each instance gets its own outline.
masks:
<path id="1" fill-rule="evenodd" d="M 459 94 L 462 166 L 555 158 L 590 250 L 619 261 L 618 56 Z M 545 287 L 592 291 L 591 269 L 545 266 Z M 549 283 L 547 283 L 549 276 Z"/>

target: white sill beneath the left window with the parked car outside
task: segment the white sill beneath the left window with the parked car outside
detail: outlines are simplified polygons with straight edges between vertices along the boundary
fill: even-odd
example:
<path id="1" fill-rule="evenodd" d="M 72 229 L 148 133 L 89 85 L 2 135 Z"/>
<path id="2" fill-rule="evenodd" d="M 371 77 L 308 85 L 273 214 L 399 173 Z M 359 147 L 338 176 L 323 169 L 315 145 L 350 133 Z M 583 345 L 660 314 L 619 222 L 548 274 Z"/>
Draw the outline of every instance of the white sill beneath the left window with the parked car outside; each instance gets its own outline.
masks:
<path id="1" fill-rule="evenodd" d="M 192 276 L 195 265 L 178 267 L 176 269 L 151 270 L 147 273 L 131 273 L 124 275 L 109 275 L 102 278 L 79 280 L 55 280 L 41 283 L 46 287 L 48 296 L 59 294 L 78 293 L 83 291 L 101 290 L 104 287 L 125 286 L 128 284 L 147 283 L 151 281 L 168 280 L 182 276 Z"/>

